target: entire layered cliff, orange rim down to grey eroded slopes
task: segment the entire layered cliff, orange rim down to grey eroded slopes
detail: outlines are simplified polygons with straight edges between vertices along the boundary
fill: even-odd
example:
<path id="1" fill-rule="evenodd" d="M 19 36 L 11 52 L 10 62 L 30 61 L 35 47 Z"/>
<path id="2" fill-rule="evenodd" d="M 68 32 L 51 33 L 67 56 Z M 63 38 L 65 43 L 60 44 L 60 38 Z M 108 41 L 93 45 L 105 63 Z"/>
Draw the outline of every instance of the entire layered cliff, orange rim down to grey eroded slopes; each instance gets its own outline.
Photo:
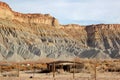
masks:
<path id="1" fill-rule="evenodd" d="M 0 60 L 120 58 L 120 25 L 60 25 L 49 14 L 22 14 L 0 2 Z"/>

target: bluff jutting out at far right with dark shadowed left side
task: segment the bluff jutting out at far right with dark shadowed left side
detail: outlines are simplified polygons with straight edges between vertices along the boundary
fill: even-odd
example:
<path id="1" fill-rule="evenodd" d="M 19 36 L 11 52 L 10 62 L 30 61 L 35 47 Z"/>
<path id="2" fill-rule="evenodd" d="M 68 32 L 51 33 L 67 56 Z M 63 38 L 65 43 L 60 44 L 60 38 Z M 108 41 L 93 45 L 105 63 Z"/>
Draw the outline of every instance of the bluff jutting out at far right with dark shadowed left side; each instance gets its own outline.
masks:
<path id="1" fill-rule="evenodd" d="M 86 27 L 88 46 L 98 48 L 112 58 L 120 57 L 120 24 L 99 24 Z"/>

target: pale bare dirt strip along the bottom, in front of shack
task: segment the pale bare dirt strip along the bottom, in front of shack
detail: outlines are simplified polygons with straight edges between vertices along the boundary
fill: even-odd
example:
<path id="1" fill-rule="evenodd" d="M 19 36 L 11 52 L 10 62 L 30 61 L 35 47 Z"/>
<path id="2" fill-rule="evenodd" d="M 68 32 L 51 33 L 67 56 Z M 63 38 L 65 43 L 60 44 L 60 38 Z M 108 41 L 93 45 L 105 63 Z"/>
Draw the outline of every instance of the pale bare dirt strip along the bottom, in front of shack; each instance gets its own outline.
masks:
<path id="1" fill-rule="evenodd" d="M 30 78 L 32 76 L 32 78 Z M 20 72 L 19 77 L 0 77 L 0 80 L 95 80 L 94 74 L 89 73 L 31 73 Z M 97 73 L 96 80 L 120 80 L 120 73 Z"/>

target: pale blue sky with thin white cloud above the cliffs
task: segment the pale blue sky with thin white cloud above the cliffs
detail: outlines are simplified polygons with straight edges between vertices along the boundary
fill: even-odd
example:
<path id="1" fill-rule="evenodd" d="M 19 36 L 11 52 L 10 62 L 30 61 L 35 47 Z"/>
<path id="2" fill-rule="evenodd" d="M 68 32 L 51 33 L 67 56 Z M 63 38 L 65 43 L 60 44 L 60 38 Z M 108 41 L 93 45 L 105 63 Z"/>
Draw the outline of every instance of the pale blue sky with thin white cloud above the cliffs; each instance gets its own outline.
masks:
<path id="1" fill-rule="evenodd" d="M 14 11 L 51 14 L 61 24 L 118 24 L 120 0 L 0 0 Z"/>

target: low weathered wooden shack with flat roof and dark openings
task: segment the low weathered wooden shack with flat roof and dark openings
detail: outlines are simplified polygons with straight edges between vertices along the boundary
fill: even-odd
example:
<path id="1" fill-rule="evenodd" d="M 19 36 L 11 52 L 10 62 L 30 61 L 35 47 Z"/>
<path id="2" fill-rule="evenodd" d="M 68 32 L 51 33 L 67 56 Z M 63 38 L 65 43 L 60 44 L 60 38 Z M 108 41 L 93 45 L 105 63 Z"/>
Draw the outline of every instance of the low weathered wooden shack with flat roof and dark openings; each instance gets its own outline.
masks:
<path id="1" fill-rule="evenodd" d="M 53 61 L 47 63 L 47 68 L 50 72 L 55 71 L 58 73 L 62 72 L 78 73 L 81 72 L 81 70 L 84 68 L 84 64 L 74 61 Z"/>

